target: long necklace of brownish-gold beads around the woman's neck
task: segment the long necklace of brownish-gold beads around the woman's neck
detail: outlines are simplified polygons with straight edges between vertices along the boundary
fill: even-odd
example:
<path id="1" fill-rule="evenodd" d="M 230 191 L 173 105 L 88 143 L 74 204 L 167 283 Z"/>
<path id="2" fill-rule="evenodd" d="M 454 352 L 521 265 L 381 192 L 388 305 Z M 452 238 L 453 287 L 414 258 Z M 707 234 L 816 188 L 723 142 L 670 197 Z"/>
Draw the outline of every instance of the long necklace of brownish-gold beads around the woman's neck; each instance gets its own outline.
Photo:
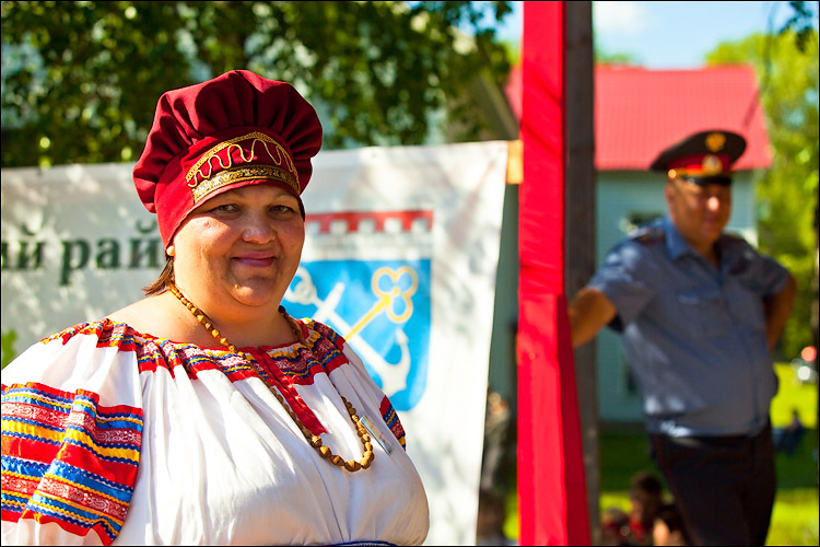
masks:
<path id="1" fill-rule="evenodd" d="M 188 300 L 183 295 L 181 292 L 179 292 L 179 289 L 174 283 L 168 283 L 168 290 L 171 293 L 179 300 L 179 302 L 183 303 L 183 305 L 194 315 L 200 325 L 202 325 L 209 333 L 211 333 L 211 336 L 213 336 L 219 342 L 226 347 L 229 351 L 232 353 L 238 353 L 242 356 L 242 358 L 247 362 L 254 371 L 256 371 L 259 379 L 265 383 L 265 385 L 270 389 L 270 393 L 273 394 L 273 396 L 279 400 L 279 403 L 284 407 L 284 409 L 288 411 L 288 414 L 291 416 L 291 419 L 296 423 L 296 427 L 298 427 L 300 431 L 302 431 L 302 434 L 305 435 L 305 439 L 307 442 L 316 449 L 319 454 L 321 454 L 321 457 L 329 461 L 333 465 L 337 465 L 339 467 L 343 467 L 348 469 L 349 472 L 358 472 L 359 469 L 366 469 L 371 466 L 371 463 L 373 463 L 373 458 L 375 455 L 373 454 L 373 445 L 371 444 L 371 437 L 367 434 L 367 430 L 362 424 L 362 421 L 359 419 L 359 416 L 356 416 L 356 409 L 353 408 L 353 405 L 344 398 L 343 395 L 339 394 L 339 396 L 342 398 L 342 401 L 344 403 L 344 407 L 348 409 L 348 414 L 350 415 L 350 419 L 353 422 L 353 424 L 356 428 L 356 433 L 359 434 L 359 439 L 362 441 L 362 445 L 364 446 L 364 454 L 362 455 L 362 459 L 356 462 L 355 459 L 348 459 L 347 462 L 341 457 L 332 452 L 330 452 L 330 449 L 328 446 L 324 446 L 321 442 L 321 438 L 319 435 L 313 434 L 309 429 L 307 429 L 303 423 L 302 420 L 298 419 L 298 416 L 296 416 L 296 412 L 294 412 L 290 406 L 284 401 L 284 398 L 282 395 L 279 394 L 279 392 L 270 384 L 265 382 L 265 374 L 261 371 L 261 368 L 259 364 L 251 359 L 251 356 L 245 353 L 244 351 L 239 351 L 236 346 L 231 344 L 227 338 L 222 336 L 222 334 L 216 329 L 216 327 L 213 326 L 213 323 L 208 318 L 208 316 L 204 314 L 203 311 L 201 311 L 199 307 L 197 307 L 194 302 Z M 295 319 L 293 319 L 288 313 L 284 311 L 284 307 L 279 306 L 279 312 L 284 316 L 284 318 L 290 324 L 291 328 L 293 329 L 293 333 L 296 335 L 296 339 L 298 339 L 300 344 L 304 344 L 304 337 L 302 336 L 302 329 L 296 324 Z"/>

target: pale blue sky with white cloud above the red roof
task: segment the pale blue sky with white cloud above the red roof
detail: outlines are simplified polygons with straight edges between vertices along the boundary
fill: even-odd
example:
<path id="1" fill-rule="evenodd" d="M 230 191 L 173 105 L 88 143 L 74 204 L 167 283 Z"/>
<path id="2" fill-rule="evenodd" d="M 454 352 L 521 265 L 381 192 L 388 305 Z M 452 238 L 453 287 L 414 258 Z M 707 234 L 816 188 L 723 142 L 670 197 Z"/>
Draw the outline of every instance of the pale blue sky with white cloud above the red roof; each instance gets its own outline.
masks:
<path id="1" fill-rule="evenodd" d="M 514 14 L 499 30 L 502 39 L 520 37 L 524 2 L 513 2 Z M 818 2 L 807 2 L 815 13 Z M 775 31 L 793 13 L 788 2 L 593 2 L 597 46 L 610 54 L 630 54 L 651 69 L 696 68 L 706 53 L 725 40 Z"/>

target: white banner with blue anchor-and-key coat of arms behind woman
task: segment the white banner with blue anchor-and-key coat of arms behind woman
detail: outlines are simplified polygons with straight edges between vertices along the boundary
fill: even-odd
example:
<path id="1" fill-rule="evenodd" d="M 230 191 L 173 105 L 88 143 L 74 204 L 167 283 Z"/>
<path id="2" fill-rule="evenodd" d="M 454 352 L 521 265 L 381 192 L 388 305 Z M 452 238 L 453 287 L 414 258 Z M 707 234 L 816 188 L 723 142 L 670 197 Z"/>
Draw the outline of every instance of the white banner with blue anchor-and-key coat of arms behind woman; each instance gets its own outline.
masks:
<path id="1" fill-rule="evenodd" d="M 320 152 L 303 195 L 283 304 L 341 334 L 390 397 L 426 488 L 427 545 L 476 542 L 506 161 L 505 141 Z M 132 166 L 2 171 L 2 334 L 17 353 L 159 275 Z"/>

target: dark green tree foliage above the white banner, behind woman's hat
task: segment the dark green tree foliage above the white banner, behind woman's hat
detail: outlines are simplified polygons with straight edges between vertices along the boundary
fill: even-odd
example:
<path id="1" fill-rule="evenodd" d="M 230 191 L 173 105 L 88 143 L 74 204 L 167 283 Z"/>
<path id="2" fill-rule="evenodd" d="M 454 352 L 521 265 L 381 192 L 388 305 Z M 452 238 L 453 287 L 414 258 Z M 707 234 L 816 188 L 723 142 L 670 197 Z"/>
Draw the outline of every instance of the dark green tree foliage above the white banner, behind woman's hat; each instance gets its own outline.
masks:
<path id="1" fill-rule="evenodd" d="M 419 144 L 509 70 L 508 2 L 2 2 L 2 165 L 134 161 L 159 96 L 232 69 L 292 82 L 325 148 Z M 472 108 L 472 109 L 471 109 Z"/>

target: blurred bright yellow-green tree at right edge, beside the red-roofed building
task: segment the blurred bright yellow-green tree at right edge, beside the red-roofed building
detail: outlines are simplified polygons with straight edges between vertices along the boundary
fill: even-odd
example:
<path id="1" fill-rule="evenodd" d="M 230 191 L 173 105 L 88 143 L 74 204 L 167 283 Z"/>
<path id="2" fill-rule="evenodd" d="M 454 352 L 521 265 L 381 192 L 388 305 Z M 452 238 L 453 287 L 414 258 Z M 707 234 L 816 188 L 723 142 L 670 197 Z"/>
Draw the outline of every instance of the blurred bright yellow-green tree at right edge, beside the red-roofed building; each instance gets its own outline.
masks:
<path id="1" fill-rule="evenodd" d="M 760 247 L 781 260 L 799 286 L 783 335 L 783 351 L 794 357 L 812 344 L 817 321 L 811 310 L 817 299 L 818 33 L 801 25 L 752 35 L 718 45 L 706 61 L 757 68 L 773 151 L 772 167 L 758 186 Z"/>

